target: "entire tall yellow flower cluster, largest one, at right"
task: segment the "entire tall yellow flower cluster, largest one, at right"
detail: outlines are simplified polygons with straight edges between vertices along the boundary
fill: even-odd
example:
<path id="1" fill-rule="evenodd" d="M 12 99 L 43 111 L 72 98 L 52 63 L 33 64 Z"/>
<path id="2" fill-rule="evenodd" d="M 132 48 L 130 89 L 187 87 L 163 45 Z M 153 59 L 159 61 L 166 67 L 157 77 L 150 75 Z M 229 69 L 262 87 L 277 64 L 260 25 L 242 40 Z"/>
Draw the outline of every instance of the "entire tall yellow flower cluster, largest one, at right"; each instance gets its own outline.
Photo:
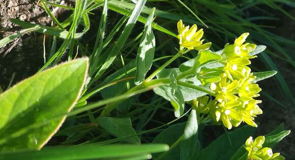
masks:
<path id="1" fill-rule="evenodd" d="M 215 100 L 218 105 L 211 112 L 216 121 L 222 121 L 227 129 L 239 126 L 242 121 L 257 127 L 254 117 L 262 114 L 257 104 L 261 101 L 254 98 L 259 96 L 260 88 L 254 84 L 256 78 L 251 73 L 249 53 L 256 45 L 245 43 L 249 34 L 245 33 L 235 40 L 234 44 L 226 45 L 222 54 L 226 56 L 225 67 L 218 83 L 212 83 L 210 89 L 216 92 Z"/>

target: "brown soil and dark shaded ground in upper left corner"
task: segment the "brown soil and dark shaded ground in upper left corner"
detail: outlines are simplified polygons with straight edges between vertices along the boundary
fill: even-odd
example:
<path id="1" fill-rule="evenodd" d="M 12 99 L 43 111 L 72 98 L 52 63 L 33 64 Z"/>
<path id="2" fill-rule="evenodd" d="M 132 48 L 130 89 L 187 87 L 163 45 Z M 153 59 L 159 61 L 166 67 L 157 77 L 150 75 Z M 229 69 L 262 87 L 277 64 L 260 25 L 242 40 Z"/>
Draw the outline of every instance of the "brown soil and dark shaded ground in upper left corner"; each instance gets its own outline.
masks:
<path id="1" fill-rule="evenodd" d="M 10 18 L 50 25 L 51 18 L 37 3 L 38 0 L 0 0 L 0 39 L 23 29 L 10 22 Z M 62 12 L 58 9 L 54 14 L 58 16 Z M 43 40 L 44 35 L 30 33 L 0 48 L 0 86 L 3 89 L 7 88 L 13 74 L 12 84 L 15 84 L 35 74 L 43 65 Z"/>

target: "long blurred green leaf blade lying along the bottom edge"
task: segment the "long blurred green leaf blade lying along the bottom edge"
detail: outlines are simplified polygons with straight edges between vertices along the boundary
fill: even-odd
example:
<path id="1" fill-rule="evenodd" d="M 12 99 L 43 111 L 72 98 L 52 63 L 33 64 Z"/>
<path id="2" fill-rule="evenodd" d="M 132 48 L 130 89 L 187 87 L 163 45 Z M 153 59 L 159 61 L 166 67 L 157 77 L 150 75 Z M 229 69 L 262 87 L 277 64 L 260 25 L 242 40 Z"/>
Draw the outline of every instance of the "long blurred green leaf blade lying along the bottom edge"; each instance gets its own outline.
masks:
<path id="1" fill-rule="evenodd" d="M 19 150 L 19 151 L 13 151 L 13 152 L 1 152 L 0 159 L 1 160 L 7 160 L 7 159 L 76 160 L 76 159 L 111 159 L 111 158 L 144 159 L 144 158 L 135 158 L 135 157 L 141 154 L 146 154 L 146 153 L 163 152 L 163 151 L 167 151 L 168 149 L 169 147 L 166 144 L 106 145 L 106 146 L 81 145 L 81 146 L 75 146 L 75 147 L 48 147 L 40 151 Z"/>

